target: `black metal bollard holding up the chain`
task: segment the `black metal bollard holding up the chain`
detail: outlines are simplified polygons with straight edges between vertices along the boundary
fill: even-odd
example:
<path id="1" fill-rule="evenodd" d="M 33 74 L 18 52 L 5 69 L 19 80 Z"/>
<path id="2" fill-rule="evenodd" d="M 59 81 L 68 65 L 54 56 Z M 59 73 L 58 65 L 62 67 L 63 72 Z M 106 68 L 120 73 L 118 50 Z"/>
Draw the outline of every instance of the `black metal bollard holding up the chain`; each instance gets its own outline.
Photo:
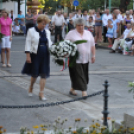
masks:
<path id="1" fill-rule="evenodd" d="M 107 122 L 107 117 L 108 117 L 108 87 L 109 87 L 109 84 L 108 84 L 108 81 L 106 80 L 105 83 L 103 84 L 103 86 L 105 87 L 105 90 L 104 90 L 104 94 L 103 94 L 103 97 L 104 97 L 104 109 L 102 111 L 103 113 L 103 125 L 108 127 L 108 122 Z"/>

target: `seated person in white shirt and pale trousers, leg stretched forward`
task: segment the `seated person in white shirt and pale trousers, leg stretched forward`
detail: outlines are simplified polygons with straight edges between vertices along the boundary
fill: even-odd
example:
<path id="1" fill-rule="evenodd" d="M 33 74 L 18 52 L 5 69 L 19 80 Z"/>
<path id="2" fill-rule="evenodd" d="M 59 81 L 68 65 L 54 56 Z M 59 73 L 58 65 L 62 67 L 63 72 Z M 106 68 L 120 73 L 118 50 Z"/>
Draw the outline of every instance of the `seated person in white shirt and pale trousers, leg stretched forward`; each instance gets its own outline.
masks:
<path id="1" fill-rule="evenodd" d="M 127 23 L 126 30 L 124 31 L 124 33 L 121 35 L 120 38 L 115 39 L 114 44 L 112 46 L 112 50 L 110 51 L 110 53 L 115 53 L 116 49 L 119 47 L 119 44 L 121 47 L 124 45 L 125 39 L 130 31 L 131 31 L 131 23 Z"/>

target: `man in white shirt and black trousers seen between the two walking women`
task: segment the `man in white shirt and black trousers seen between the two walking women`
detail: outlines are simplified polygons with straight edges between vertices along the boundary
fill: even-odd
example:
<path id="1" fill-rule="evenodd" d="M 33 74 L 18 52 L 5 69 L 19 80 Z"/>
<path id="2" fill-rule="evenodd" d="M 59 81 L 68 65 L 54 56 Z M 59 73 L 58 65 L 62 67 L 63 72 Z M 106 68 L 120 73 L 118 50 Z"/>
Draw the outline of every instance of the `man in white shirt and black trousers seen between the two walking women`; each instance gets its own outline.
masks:
<path id="1" fill-rule="evenodd" d="M 61 10 L 58 10 L 57 14 L 52 18 L 52 23 L 55 28 L 55 43 L 57 43 L 57 39 L 59 39 L 59 41 L 62 40 L 62 29 L 65 23 Z"/>

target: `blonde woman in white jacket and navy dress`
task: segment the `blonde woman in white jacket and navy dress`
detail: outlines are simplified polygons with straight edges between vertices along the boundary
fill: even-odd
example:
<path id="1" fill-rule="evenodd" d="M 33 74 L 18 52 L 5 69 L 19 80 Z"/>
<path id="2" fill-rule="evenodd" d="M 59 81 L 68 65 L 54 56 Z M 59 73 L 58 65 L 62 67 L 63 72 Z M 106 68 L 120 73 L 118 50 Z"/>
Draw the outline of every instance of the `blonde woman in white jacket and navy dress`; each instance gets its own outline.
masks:
<path id="1" fill-rule="evenodd" d="M 40 100 L 45 101 L 44 87 L 46 78 L 50 76 L 50 54 L 49 47 L 52 45 L 50 32 L 44 30 L 49 18 L 41 14 L 37 18 L 38 26 L 30 28 L 26 37 L 25 53 L 26 63 L 22 70 L 23 74 L 31 76 L 29 96 L 32 96 L 33 86 L 38 76 L 40 79 Z"/>

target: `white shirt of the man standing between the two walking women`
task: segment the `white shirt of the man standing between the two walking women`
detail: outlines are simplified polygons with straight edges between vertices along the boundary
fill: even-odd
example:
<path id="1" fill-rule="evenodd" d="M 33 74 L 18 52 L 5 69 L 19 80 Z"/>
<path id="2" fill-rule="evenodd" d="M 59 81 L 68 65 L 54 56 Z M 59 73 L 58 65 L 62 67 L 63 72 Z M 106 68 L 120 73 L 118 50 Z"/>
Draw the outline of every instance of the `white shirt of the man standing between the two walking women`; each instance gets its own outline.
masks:
<path id="1" fill-rule="evenodd" d="M 55 26 L 62 26 L 63 23 L 65 23 L 65 19 L 64 19 L 63 15 L 60 15 L 60 16 L 55 15 L 52 17 L 52 23 L 53 22 L 55 23 Z"/>

